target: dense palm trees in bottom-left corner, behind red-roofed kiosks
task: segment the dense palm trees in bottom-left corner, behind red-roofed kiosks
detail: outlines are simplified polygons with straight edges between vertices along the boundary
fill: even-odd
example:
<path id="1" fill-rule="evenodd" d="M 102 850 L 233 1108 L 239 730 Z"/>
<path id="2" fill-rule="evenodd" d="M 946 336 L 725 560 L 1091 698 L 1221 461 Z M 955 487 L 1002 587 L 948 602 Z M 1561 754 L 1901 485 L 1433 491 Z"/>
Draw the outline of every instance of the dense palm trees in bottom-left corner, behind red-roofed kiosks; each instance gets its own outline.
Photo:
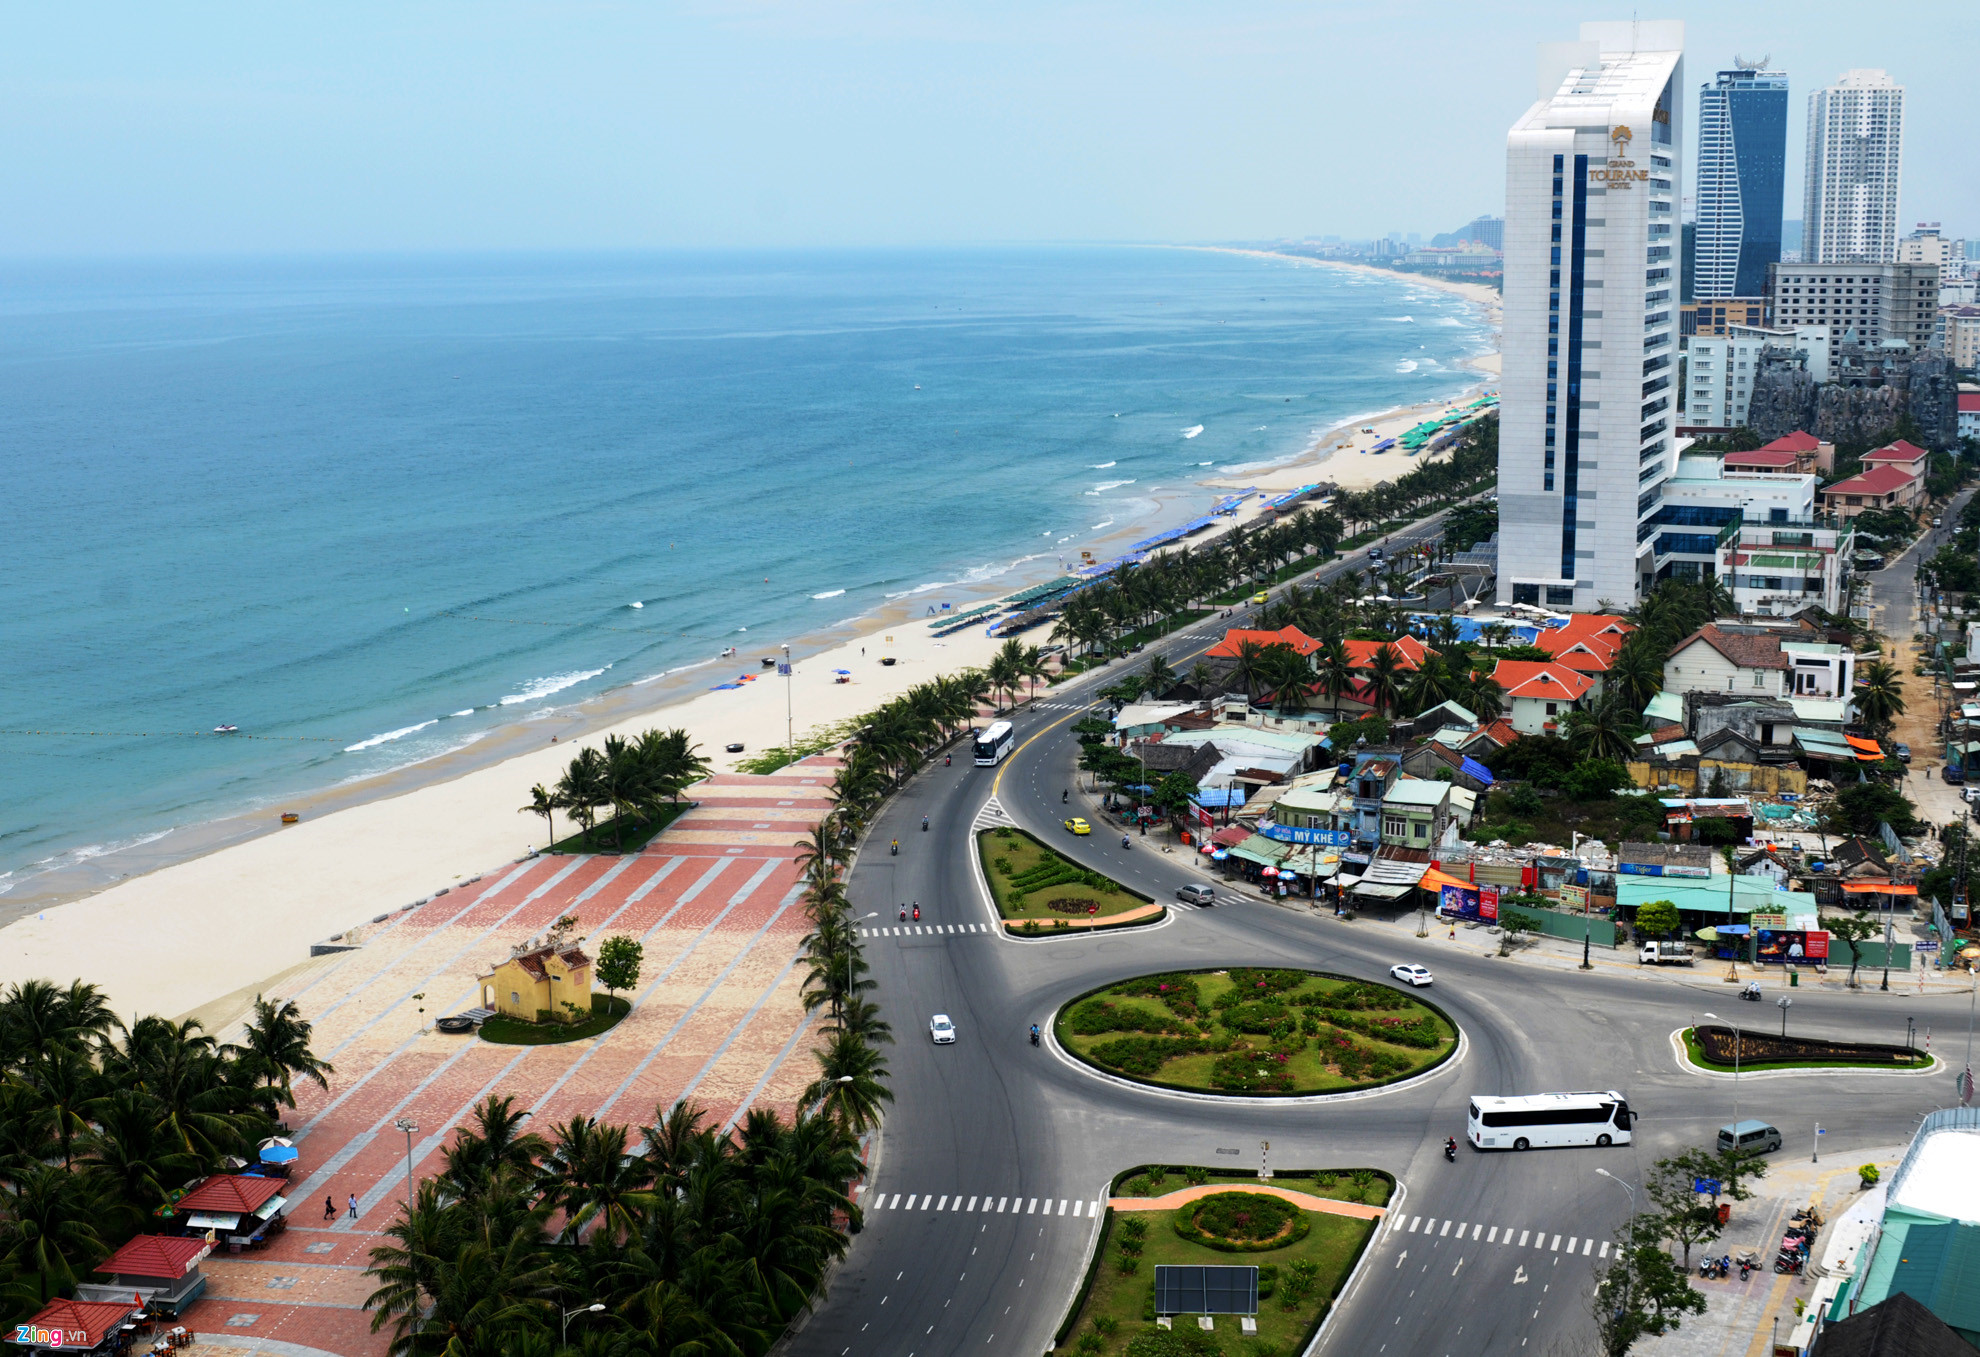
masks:
<path id="1" fill-rule="evenodd" d="M 0 994 L 0 1298 L 30 1317 L 145 1232 L 172 1191 L 253 1159 L 295 1080 L 331 1066 L 293 1002 L 255 996 L 238 1042 L 196 1018 L 119 1018 L 75 981 Z"/>

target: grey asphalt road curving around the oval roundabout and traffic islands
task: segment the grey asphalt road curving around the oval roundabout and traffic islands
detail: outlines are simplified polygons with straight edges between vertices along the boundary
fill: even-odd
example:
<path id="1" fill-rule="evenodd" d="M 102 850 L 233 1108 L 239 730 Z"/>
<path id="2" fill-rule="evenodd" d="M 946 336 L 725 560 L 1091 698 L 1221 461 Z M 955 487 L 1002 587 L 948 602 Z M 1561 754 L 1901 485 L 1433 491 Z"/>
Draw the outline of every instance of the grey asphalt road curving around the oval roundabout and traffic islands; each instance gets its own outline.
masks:
<path id="1" fill-rule="evenodd" d="M 1432 523 L 1398 535 L 1390 547 L 1434 531 Z M 1150 650 L 1186 668 L 1224 626 L 1212 620 Z M 1095 687 L 1129 668 L 1081 676 L 1024 707 L 1014 717 L 1018 749 L 1000 769 L 960 759 L 933 767 L 867 836 L 881 846 L 901 840 L 899 858 L 867 848 L 849 878 L 855 911 L 877 915 L 865 927 L 891 929 L 871 937 L 865 955 L 895 1026 L 887 1054 L 897 1099 L 861 1195 L 867 1226 L 790 1351 L 1043 1353 L 1093 1244 L 1091 1206 L 1117 1171 L 1138 1163 L 1249 1167 L 1259 1141 L 1271 1141 L 1271 1163 L 1281 1169 L 1388 1169 L 1404 1185 L 1396 1214 L 1437 1222 L 1436 1234 L 1398 1222 L 1378 1236 L 1321 1351 L 1548 1351 L 1556 1339 L 1584 1335 L 1598 1256 L 1582 1250 L 1598 1250 L 1628 1212 L 1624 1193 L 1596 1167 L 1637 1183 L 1651 1161 L 1709 1145 L 1732 1119 L 1732 1084 L 1677 1070 L 1669 1046 L 1669 1034 L 1703 1010 L 1746 1016 L 1727 1012 L 1729 987 L 1707 969 L 1677 981 L 1499 961 L 1483 955 L 1493 949 L 1487 941 L 1412 955 L 1406 929 L 1342 923 L 1234 891 L 1220 891 L 1226 903 L 1216 909 L 1172 909 L 1162 925 L 1119 935 L 998 935 L 984 927 L 994 911 L 970 868 L 972 826 L 992 796 L 1024 828 L 1156 899 L 1206 880 L 1194 862 L 1144 840 L 1123 850 L 1117 834 L 1073 838 L 1059 828 L 1067 814 L 1059 794 L 1073 786 L 1077 759 L 1069 725 Z M 1097 818 L 1079 796 L 1073 790 L 1073 808 Z M 919 828 L 923 814 L 929 832 Z M 901 903 L 921 905 L 919 927 L 903 931 Z M 1059 1004 L 1125 975 L 1297 965 L 1382 979 L 1390 965 L 1420 959 L 1434 961 L 1430 996 L 1463 1028 L 1465 1050 L 1428 1080 L 1374 1097 L 1323 1105 L 1186 1099 L 1117 1086 L 1026 1040 L 1032 1022 L 1049 1030 Z M 1794 1006 L 1794 1028 L 1901 1032 L 1905 1016 L 1917 1016 L 1948 1030 L 1964 1022 L 1964 1010 L 1962 996 L 1810 992 Z M 954 1020 L 952 1046 L 931 1044 L 935 1012 Z M 1752 1016 L 1758 1026 L 1778 1014 L 1766 1006 Z M 1463 1137 L 1471 1094 L 1574 1088 L 1626 1092 L 1641 1117 L 1634 1145 L 1523 1155 L 1461 1147 L 1455 1165 L 1443 1163 L 1443 1139 Z M 1950 1088 L 1950 1074 L 1748 1080 L 1738 1111 L 1774 1121 L 1788 1139 L 1784 1155 L 1808 1145 L 1820 1119 L 1824 1151 L 1847 1157 L 1909 1137 Z"/>

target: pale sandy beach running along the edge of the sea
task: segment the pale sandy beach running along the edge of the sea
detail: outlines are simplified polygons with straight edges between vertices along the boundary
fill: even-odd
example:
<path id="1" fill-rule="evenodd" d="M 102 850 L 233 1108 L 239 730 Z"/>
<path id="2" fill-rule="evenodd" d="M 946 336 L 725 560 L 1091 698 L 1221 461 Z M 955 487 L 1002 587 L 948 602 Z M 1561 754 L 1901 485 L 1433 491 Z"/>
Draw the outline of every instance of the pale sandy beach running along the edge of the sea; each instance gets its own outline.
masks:
<path id="1" fill-rule="evenodd" d="M 1313 267 L 1358 267 L 1271 252 L 1232 250 Z M 1489 287 L 1406 277 L 1485 307 L 1497 323 L 1497 293 Z M 1497 355 L 1471 361 L 1481 380 L 1497 374 Z M 1396 452 L 1368 456 L 1378 438 L 1455 404 L 1437 400 L 1325 434 L 1303 456 L 1261 473 L 1202 481 L 1204 489 L 1293 489 L 1317 479 L 1364 487 L 1402 475 L 1420 458 Z M 1364 432 L 1372 428 L 1374 432 Z M 1182 491 L 1192 499 L 1192 491 Z M 1192 503 L 1190 511 L 1200 511 Z M 1257 517 L 1253 499 L 1230 527 Z M 1176 513 L 1164 501 L 1164 521 Z M 1097 555 L 1121 551 L 1148 523 L 1123 527 Z M 1192 545 L 1206 541 L 1190 539 Z M 1043 576 L 1040 576 L 1043 578 Z M 994 598 L 1038 580 L 1000 580 Z M 921 606 L 917 602 L 917 606 Z M 970 606 L 958 600 L 956 610 Z M 776 646 L 739 650 L 731 660 L 697 668 L 669 683 L 616 689 L 592 703 L 523 721 L 459 759 L 386 775 L 362 784 L 325 788 L 293 808 L 301 822 L 277 828 L 273 816 L 232 818 L 188 832 L 194 854 L 180 860 L 121 864 L 131 876 L 79 899 L 28 903 L 24 917 L 0 927 L 0 981 L 81 975 L 103 987 L 119 1012 L 184 1014 L 216 1000 L 246 1002 L 253 987 L 309 957 L 309 945 L 380 913 L 495 872 L 544 842 L 543 820 L 517 814 L 535 783 L 550 784 L 580 743 L 606 733 L 634 735 L 649 727 L 683 727 L 719 771 L 737 765 L 725 755 L 742 743 L 744 755 L 784 743 L 786 701 L 796 735 L 859 715 L 939 674 L 982 666 L 1002 644 L 980 628 L 937 638 L 929 618 L 895 608 L 853 628 L 794 644 L 794 674 L 782 679 L 762 668 Z M 853 634 L 847 634 L 853 632 Z M 1045 632 L 1026 636 L 1043 642 Z M 883 664 L 891 658 L 893 664 Z M 847 670 L 840 683 L 836 670 Z M 750 676 L 741 687 L 715 683 Z M 558 834 L 568 832 L 558 818 Z M 162 848 L 162 844 L 160 844 Z M 184 852 L 180 848 L 178 852 Z M 222 961 L 224 959 L 224 961 Z M 218 1004 L 226 1006 L 226 1004 Z"/>

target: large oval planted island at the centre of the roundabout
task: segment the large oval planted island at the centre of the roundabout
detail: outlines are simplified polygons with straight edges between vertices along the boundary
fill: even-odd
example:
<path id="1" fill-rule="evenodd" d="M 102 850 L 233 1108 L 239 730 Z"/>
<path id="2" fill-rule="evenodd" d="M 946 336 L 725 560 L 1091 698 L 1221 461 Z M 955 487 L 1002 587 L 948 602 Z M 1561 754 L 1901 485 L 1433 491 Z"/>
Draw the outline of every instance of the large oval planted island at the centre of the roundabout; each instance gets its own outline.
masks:
<path id="1" fill-rule="evenodd" d="M 1109 1074 L 1206 1094 L 1370 1088 L 1457 1048 L 1424 1000 L 1313 971 L 1146 975 L 1081 994 L 1053 1022 L 1065 1050 Z"/>

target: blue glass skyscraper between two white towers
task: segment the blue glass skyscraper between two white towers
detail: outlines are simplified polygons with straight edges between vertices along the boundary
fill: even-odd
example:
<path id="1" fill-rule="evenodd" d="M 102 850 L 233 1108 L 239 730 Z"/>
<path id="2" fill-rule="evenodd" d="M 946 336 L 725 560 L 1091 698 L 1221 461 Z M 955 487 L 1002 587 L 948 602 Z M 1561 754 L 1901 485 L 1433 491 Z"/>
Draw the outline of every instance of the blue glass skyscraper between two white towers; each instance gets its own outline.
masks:
<path id="1" fill-rule="evenodd" d="M 1697 273 L 1691 291 L 1758 297 L 1780 261 L 1788 176 L 1788 77 L 1734 59 L 1699 87 Z"/>

